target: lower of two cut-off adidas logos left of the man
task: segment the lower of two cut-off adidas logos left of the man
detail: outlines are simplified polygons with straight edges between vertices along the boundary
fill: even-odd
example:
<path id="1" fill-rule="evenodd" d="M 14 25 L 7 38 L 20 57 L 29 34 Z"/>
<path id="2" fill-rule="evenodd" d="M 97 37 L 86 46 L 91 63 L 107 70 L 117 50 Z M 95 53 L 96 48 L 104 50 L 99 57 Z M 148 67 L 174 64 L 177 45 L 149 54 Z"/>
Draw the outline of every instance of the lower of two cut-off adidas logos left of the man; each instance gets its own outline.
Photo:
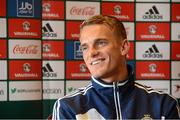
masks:
<path id="1" fill-rule="evenodd" d="M 54 70 L 50 66 L 49 63 L 47 63 L 45 66 L 42 67 L 43 71 L 43 77 L 53 78 L 57 77 L 57 73 L 54 73 Z"/>

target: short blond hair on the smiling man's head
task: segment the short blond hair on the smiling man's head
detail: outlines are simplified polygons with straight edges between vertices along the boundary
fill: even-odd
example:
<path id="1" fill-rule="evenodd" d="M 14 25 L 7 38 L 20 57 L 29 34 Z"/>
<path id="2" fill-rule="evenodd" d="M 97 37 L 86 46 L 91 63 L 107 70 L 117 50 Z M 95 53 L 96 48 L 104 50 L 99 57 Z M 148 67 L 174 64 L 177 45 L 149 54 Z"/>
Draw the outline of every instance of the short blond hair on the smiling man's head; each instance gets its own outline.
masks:
<path id="1" fill-rule="evenodd" d="M 119 21 L 116 17 L 106 16 L 106 15 L 95 15 L 90 17 L 89 19 L 83 21 L 80 25 L 80 30 L 87 25 L 95 25 L 95 24 L 104 24 L 108 26 L 111 30 L 114 30 L 114 33 L 122 38 L 122 40 L 127 39 L 127 34 L 124 25 L 121 21 Z"/>

